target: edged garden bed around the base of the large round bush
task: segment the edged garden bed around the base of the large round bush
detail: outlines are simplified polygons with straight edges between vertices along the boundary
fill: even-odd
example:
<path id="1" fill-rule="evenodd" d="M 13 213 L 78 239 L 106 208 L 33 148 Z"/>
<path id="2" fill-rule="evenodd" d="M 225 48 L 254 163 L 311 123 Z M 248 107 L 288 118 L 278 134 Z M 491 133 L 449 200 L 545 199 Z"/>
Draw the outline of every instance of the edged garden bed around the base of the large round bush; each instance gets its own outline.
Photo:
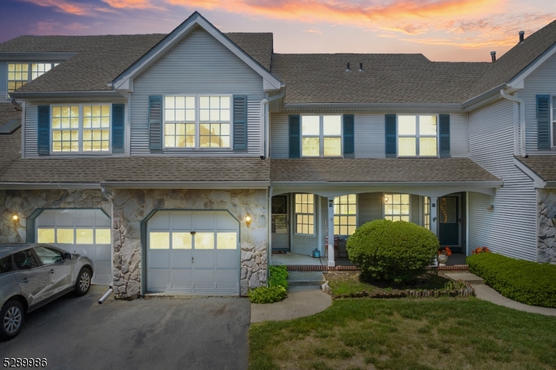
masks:
<path id="1" fill-rule="evenodd" d="M 334 294 L 350 294 L 356 292 L 396 292 L 405 289 L 443 289 L 449 278 L 436 276 L 434 272 L 427 272 L 419 276 L 414 283 L 399 284 L 365 282 L 359 279 L 359 272 L 352 273 L 329 273 L 327 274 L 328 285 Z"/>

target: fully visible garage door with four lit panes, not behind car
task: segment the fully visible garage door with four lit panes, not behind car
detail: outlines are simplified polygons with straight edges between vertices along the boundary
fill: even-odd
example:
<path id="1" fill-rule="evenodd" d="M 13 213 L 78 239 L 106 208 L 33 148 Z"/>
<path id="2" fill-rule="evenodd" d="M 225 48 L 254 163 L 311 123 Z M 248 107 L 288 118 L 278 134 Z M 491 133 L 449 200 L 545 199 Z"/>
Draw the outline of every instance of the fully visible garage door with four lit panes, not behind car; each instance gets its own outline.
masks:
<path id="1" fill-rule="evenodd" d="M 228 212 L 159 211 L 147 223 L 147 291 L 237 295 L 239 253 Z"/>

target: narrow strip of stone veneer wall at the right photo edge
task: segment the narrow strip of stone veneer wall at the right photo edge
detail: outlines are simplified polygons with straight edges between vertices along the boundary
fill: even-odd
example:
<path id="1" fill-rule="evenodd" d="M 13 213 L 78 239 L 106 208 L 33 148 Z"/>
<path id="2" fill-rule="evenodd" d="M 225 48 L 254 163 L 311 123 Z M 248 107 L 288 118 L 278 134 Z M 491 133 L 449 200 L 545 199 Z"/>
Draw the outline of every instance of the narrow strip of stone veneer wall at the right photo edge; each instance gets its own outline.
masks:
<path id="1" fill-rule="evenodd" d="M 537 190 L 537 261 L 556 263 L 556 190 Z"/>

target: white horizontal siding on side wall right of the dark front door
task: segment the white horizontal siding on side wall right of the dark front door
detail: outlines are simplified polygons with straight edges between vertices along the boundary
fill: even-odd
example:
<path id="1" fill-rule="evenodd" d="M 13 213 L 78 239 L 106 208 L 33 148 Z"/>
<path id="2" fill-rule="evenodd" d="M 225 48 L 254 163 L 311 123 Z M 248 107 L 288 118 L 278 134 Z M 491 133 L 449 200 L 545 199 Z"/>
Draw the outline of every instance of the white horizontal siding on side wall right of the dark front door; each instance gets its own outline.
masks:
<path id="1" fill-rule="evenodd" d="M 536 194 L 532 180 L 514 165 L 512 101 L 469 113 L 469 158 L 502 178 L 504 186 L 492 198 L 469 192 L 468 251 L 488 246 L 496 253 L 536 260 Z"/>

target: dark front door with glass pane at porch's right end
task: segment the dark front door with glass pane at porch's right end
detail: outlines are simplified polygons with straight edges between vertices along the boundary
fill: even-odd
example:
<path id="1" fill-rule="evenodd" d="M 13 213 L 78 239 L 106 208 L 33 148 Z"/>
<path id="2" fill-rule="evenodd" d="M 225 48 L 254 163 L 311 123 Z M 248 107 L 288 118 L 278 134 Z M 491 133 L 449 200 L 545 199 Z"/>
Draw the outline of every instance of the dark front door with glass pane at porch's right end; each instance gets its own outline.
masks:
<path id="1" fill-rule="evenodd" d="M 439 199 L 439 240 L 441 246 L 461 248 L 459 196 L 442 196 Z"/>

